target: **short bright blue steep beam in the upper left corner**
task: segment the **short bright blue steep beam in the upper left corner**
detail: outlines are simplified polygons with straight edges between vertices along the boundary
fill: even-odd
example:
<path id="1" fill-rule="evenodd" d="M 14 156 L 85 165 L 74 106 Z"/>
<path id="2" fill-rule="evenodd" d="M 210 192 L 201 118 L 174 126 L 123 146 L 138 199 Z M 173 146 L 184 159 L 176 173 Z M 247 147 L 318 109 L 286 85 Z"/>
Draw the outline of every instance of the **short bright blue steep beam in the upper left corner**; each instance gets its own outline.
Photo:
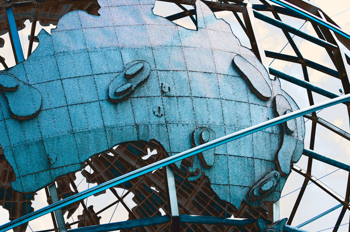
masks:
<path id="1" fill-rule="evenodd" d="M 22 45 L 20 44 L 19 35 L 17 31 L 16 21 L 14 20 L 14 14 L 12 6 L 6 7 L 6 15 L 9 24 L 8 32 L 12 38 L 15 54 L 17 57 L 18 63 L 24 61 Z"/>

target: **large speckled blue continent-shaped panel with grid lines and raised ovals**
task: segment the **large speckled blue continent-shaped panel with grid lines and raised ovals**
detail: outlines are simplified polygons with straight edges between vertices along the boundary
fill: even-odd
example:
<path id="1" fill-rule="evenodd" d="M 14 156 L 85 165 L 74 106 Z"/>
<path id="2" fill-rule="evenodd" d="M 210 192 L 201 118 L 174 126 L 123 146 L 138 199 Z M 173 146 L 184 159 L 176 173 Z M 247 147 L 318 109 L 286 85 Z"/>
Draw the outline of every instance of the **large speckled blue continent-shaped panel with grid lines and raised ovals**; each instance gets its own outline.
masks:
<path id="1" fill-rule="evenodd" d="M 174 155 L 298 109 L 201 1 L 198 31 L 154 15 L 154 0 L 99 4 L 100 16 L 72 11 L 41 30 L 30 57 L 0 73 L 13 189 L 36 191 L 122 142 L 155 139 Z M 198 154 L 190 171 L 236 208 L 276 201 L 303 138 L 297 118 Z"/>

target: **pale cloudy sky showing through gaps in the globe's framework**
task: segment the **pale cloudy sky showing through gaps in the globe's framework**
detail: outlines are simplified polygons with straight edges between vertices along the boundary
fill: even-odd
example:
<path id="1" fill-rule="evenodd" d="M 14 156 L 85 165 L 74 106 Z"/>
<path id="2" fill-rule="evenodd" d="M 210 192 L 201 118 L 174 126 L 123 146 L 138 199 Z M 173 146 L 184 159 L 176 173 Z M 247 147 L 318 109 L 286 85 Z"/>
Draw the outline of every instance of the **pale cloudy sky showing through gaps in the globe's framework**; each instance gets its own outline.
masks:
<path id="1" fill-rule="evenodd" d="M 255 1 L 251 0 L 251 2 L 254 3 Z M 313 2 L 317 4 L 321 9 L 323 9 L 323 11 L 328 16 L 330 16 L 336 23 L 338 23 L 338 25 L 345 32 L 350 33 L 350 1 L 334 0 L 334 1 L 331 1 L 331 3 L 329 3 L 329 0 L 313 0 Z M 162 16 L 167 16 L 171 13 L 177 13 L 178 8 L 174 6 L 172 3 L 156 2 L 154 12 Z M 234 31 L 235 36 L 239 38 L 243 46 L 247 46 L 247 47 L 250 46 L 247 40 L 247 37 L 245 36 L 244 32 L 240 29 L 239 24 L 236 22 L 231 12 L 226 12 L 226 11 L 217 12 L 215 13 L 215 15 L 217 18 L 223 18 L 226 22 L 230 24 L 232 31 Z M 300 28 L 300 30 L 305 31 L 306 33 L 315 35 L 314 31 L 312 30 L 312 26 L 308 22 L 304 23 L 304 21 L 296 20 L 287 16 L 282 16 L 282 19 L 285 20 L 285 22 L 289 23 L 290 25 L 296 28 Z M 256 21 L 258 23 L 258 28 L 259 28 L 259 31 L 258 31 L 259 38 L 260 38 L 259 40 L 261 41 L 263 48 L 265 50 L 280 52 L 287 43 L 287 40 L 284 38 L 284 35 L 282 34 L 281 30 L 273 26 L 267 25 L 266 23 L 260 22 L 258 20 Z M 193 29 L 193 24 L 190 23 L 188 18 L 180 19 L 176 23 Z M 30 33 L 30 23 L 26 21 L 25 24 L 26 24 L 26 27 L 23 30 L 19 31 L 19 36 L 22 42 L 22 47 L 24 48 L 24 54 L 26 56 L 26 53 L 27 53 L 26 49 L 28 45 L 27 37 L 28 37 L 28 34 Z M 36 34 L 40 31 L 41 28 L 42 27 L 39 26 L 39 24 L 37 24 L 36 31 L 35 31 Z M 44 29 L 49 32 L 51 28 L 54 28 L 54 26 L 45 27 Z M 14 59 L 11 55 L 12 51 L 10 49 L 10 46 L 8 46 L 9 44 L 8 35 L 5 34 L 1 37 L 5 39 L 5 44 L 7 45 L 5 45 L 3 48 L 0 48 L 0 54 L 1 56 L 5 57 L 6 63 L 8 64 L 8 66 L 12 66 L 14 65 Z M 314 62 L 318 62 L 322 65 L 335 69 L 334 66 L 331 64 L 330 59 L 327 56 L 324 49 L 322 50 L 316 45 L 308 41 L 305 41 L 304 39 L 301 39 L 297 36 L 294 37 L 294 41 L 296 45 L 299 47 L 302 55 L 306 59 L 310 59 Z M 37 43 L 34 43 L 33 48 L 35 48 L 36 45 Z M 290 45 L 288 44 L 282 50 L 282 53 L 295 55 Z M 348 54 L 350 55 L 350 52 Z M 267 58 L 267 64 L 270 64 L 271 62 L 272 62 L 272 59 Z M 298 64 L 290 64 L 288 62 L 274 60 L 270 64 L 270 66 L 277 70 L 285 72 L 289 75 L 302 78 L 301 66 Z M 339 88 L 342 88 L 342 87 L 339 80 L 336 80 L 333 77 L 329 77 L 315 70 L 308 69 L 308 71 L 309 71 L 311 83 L 313 83 L 318 87 L 331 91 L 333 93 L 340 94 Z M 283 80 L 281 80 L 281 86 L 282 86 L 282 89 L 285 90 L 295 100 L 299 108 L 304 108 L 308 106 L 306 91 L 303 88 L 297 87 Z M 320 96 L 318 94 L 313 94 L 313 96 L 314 96 L 315 103 L 327 100 L 327 98 Z M 324 109 L 318 113 L 318 116 L 338 126 L 342 130 L 349 132 L 349 120 L 347 117 L 346 109 L 343 105 L 337 105 L 331 108 Z M 304 141 L 305 148 L 309 147 L 310 125 L 311 125 L 310 121 L 306 121 L 305 123 L 306 135 L 305 135 L 305 141 Z M 342 139 L 340 136 L 337 136 L 331 133 L 330 131 L 328 131 L 327 129 L 321 126 L 317 126 L 317 130 L 316 130 L 315 151 L 326 157 L 330 157 L 332 159 L 335 159 L 344 163 L 350 163 L 350 142 L 346 141 L 345 139 Z M 296 165 L 300 167 L 300 169 L 306 170 L 306 165 L 307 165 L 306 161 L 307 161 L 307 158 L 303 156 Z M 337 171 L 335 170 L 337 169 L 332 166 L 325 165 L 318 161 L 314 161 L 312 175 L 316 178 L 321 178 L 327 175 L 323 177 L 320 181 L 324 183 L 326 186 L 328 186 L 330 189 L 332 189 L 335 193 L 344 197 L 348 173 L 342 170 L 337 170 Z M 81 174 L 79 173 L 77 173 L 76 176 L 77 176 L 77 180 L 83 179 Z M 290 174 L 287 180 L 287 183 L 285 184 L 285 187 L 282 191 L 281 196 L 284 196 L 287 194 L 288 195 L 285 197 L 282 197 L 279 201 L 281 219 L 289 217 L 291 209 L 294 205 L 294 202 L 299 192 L 297 189 L 301 187 L 302 182 L 303 182 L 303 178 L 300 175 L 296 174 L 295 172 L 292 172 Z M 87 185 L 85 181 L 82 181 L 78 186 L 78 189 L 79 191 L 82 191 L 92 186 L 94 185 L 91 185 L 91 184 Z M 121 189 L 117 189 L 117 191 L 119 194 L 122 194 L 123 192 Z M 292 192 L 292 191 L 295 191 L 295 192 Z M 98 197 L 89 197 L 87 200 L 88 202 L 87 204 L 88 205 L 93 204 L 94 210 L 95 212 L 97 212 L 103 205 L 108 204 L 108 199 L 110 198 L 112 198 L 112 194 L 108 190 L 107 193 L 104 195 L 100 195 Z M 128 200 L 126 201 L 130 207 L 133 206 L 132 205 L 133 202 L 131 198 L 132 198 L 132 195 L 130 195 L 128 197 Z M 45 193 L 44 191 L 41 190 L 38 192 L 38 195 L 35 196 L 35 201 L 32 206 L 34 209 L 39 209 L 45 205 L 47 205 Z M 324 211 L 336 205 L 338 205 L 337 201 L 332 199 L 330 196 L 328 196 L 326 193 L 324 193 L 314 184 L 310 184 L 306 188 L 304 197 L 300 203 L 299 209 L 297 211 L 297 215 L 293 220 L 292 226 L 297 226 L 307 221 L 308 219 L 311 219 L 316 215 L 321 214 Z M 81 214 L 81 210 L 82 209 L 80 208 L 76 213 L 76 215 Z M 326 229 L 334 227 L 334 224 L 337 220 L 340 210 L 341 208 L 322 217 L 321 219 L 316 220 L 313 223 L 310 223 L 309 225 L 302 227 L 301 229 L 310 231 L 310 232 L 318 232 L 322 230 L 325 230 L 325 232 L 330 232 L 332 230 L 330 229 L 326 230 Z M 113 214 L 113 211 L 115 211 L 114 214 Z M 127 220 L 127 213 L 120 206 L 118 206 L 116 210 L 114 210 L 114 208 L 110 208 L 103 214 L 105 215 L 105 217 L 101 215 L 102 216 L 101 223 L 108 223 L 109 221 L 116 222 L 116 221 Z M 110 217 L 111 215 L 113 215 L 112 218 Z M 347 212 L 341 224 L 348 224 L 349 218 L 350 218 L 350 215 Z M 45 224 L 42 222 L 49 222 L 50 220 L 51 220 L 50 216 L 46 215 L 37 220 L 30 222 L 29 226 L 33 231 L 48 229 L 49 227 L 51 227 L 51 225 L 48 225 L 47 223 Z M 68 222 L 70 222 L 69 220 Z M 0 224 L 6 223 L 6 222 L 8 222 L 8 213 L 6 210 L 0 207 Z M 28 232 L 31 231 L 30 228 L 27 229 Z M 349 228 L 348 225 L 341 226 L 339 227 L 338 232 L 347 232 L 348 228 Z"/>

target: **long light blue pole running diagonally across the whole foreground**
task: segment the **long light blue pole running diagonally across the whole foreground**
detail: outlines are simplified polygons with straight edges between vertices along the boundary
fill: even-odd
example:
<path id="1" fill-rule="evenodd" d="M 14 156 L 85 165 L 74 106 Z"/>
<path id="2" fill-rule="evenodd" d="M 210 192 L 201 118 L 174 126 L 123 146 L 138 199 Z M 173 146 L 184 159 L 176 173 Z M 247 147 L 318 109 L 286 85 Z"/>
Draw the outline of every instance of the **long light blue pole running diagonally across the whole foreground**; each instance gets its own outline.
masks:
<path id="1" fill-rule="evenodd" d="M 284 114 L 284 115 L 279 116 L 277 118 L 273 118 L 273 119 L 268 120 L 266 122 L 259 123 L 257 125 L 245 128 L 243 130 L 234 132 L 232 134 L 223 136 L 221 138 L 218 138 L 218 139 L 212 140 L 210 142 L 204 143 L 202 145 L 199 145 L 197 147 L 191 148 L 191 149 L 189 149 L 187 151 L 184 151 L 184 152 L 178 153 L 176 155 L 167 157 L 165 159 L 159 160 L 159 161 L 154 162 L 154 163 L 152 163 L 150 165 L 147 165 L 145 167 L 139 168 L 137 170 L 134 170 L 132 172 L 124 174 L 124 175 L 122 175 L 120 177 L 114 178 L 114 179 L 112 179 L 110 181 L 107 181 L 107 182 L 102 183 L 100 185 L 94 186 L 94 187 L 92 187 L 90 189 L 84 190 L 84 191 L 82 191 L 80 193 L 77 193 L 77 194 L 75 194 L 73 196 L 70 196 L 68 198 L 62 199 L 59 202 L 56 202 L 54 204 L 51 204 L 49 206 L 46 206 L 46 207 L 41 208 L 39 210 L 36 210 L 36 211 L 34 211 L 34 212 L 30 213 L 30 214 L 22 216 L 22 217 L 20 217 L 20 218 L 18 218 L 16 220 L 13 220 L 13 221 L 11 221 L 9 223 L 6 223 L 6 224 L 0 226 L 0 232 L 8 231 L 8 230 L 10 230 L 12 228 L 15 228 L 17 226 L 22 225 L 23 223 L 27 223 L 27 222 L 29 222 L 31 220 L 34 220 L 34 219 L 39 218 L 39 217 L 41 217 L 41 216 L 43 216 L 45 214 L 48 214 L 48 213 L 50 213 L 50 212 L 52 212 L 54 210 L 60 209 L 60 208 L 65 207 L 65 206 L 68 206 L 68 205 L 70 205 L 70 204 L 72 204 L 74 202 L 80 201 L 80 200 L 85 199 L 85 198 L 87 198 L 89 196 L 97 194 L 97 193 L 99 193 L 101 191 L 104 191 L 106 189 L 112 188 L 112 187 L 114 187 L 116 185 L 119 185 L 119 184 L 124 183 L 124 182 L 129 181 L 129 180 L 132 180 L 132 179 L 134 179 L 136 177 L 139 177 L 139 176 L 141 176 L 143 174 L 149 173 L 149 172 L 151 172 L 153 170 L 156 170 L 158 168 L 162 168 L 162 167 L 164 167 L 166 165 L 175 163 L 177 161 L 180 161 L 180 160 L 185 159 L 187 157 L 193 156 L 193 155 L 198 154 L 200 152 L 203 152 L 203 151 L 206 151 L 208 149 L 220 146 L 222 144 L 225 144 L 227 142 L 233 141 L 235 139 L 239 139 L 239 138 L 244 137 L 246 135 L 250 135 L 250 134 L 252 134 L 254 132 L 261 131 L 261 130 L 266 129 L 268 127 L 278 125 L 278 124 L 286 122 L 288 120 L 291 120 L 291 119 L 303 116 L 305 114 L 308 114 L 308 113 L 311 113 L 311 112 L 315 112 L 317 110 L 320 110 L 320 109 L 323 109 L 323 108 L 326 108 L 326 107 L 329 107 L 329 106 L 333 106 L 333 105 L 336 105 L 336 104 L 339 104 L 339 103 L 342 103 L 342 102 L 345 102 L 345 101 L 349 101 L 349 100 L 350 100 L 350 94 L 346 94 L 344 96 L 340 96 L 340 97 L 337 97 L 337 98 L 334 98 L 334 99 L 331 99 L 331 100 L 328 100 L 328 101 L 324 101 L 324 102 L 321 102 L 321 103 L 318 103 L 318 104 L 306 107 L 304 109 L 296 110 L 296 111 L 291 112 L 289 114 Z"/>

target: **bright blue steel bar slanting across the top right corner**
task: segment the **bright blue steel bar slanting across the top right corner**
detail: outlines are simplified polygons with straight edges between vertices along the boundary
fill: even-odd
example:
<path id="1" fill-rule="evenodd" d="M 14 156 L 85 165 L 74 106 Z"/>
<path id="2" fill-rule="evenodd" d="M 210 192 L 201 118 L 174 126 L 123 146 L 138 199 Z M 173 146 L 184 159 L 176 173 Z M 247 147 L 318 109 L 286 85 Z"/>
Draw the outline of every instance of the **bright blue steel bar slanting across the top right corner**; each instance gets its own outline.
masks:
<path id="1" fill-rule="evenodd" d="M 301 14 L 304 17 L 306 17 L 307 19 L 309 19 L 310 21 L 316 22 L 316 23 L 318 23 L 318 24 L 320 24 L 320 25 L 322 25 L 322 26 L 334 31 L 335 33 L 338 33 L 338 34 L 340 34 L 340 35 L 342 35 L 345 38 L 350 40 L 350 35 L 347 34 L 346 32 L 344 32 L 340 27 L 337 27 L 337 26 L 335 26 L 327 21 L 324 21 L 321 18 L 307 12 L 306 10 L 297 7 L 296 5 L 293 5 L 285 0 L 270 0 L 270 1 L 272 1 L 276 4 L 279 4 L 281 6 L 284 6 L 285 8 L 290 9 L 298 14 Z"/>

